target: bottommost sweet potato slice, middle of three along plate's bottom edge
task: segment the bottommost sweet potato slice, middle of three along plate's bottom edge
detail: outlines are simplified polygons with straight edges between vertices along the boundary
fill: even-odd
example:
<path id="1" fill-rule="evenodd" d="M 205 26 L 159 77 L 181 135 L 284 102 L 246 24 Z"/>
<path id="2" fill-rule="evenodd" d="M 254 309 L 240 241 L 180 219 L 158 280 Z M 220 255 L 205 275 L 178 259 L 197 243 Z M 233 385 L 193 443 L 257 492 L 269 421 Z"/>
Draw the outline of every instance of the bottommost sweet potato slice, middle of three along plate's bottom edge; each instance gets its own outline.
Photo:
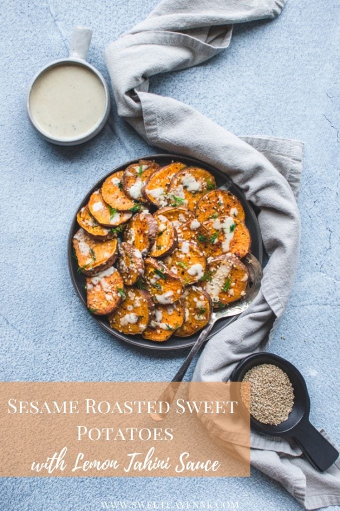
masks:
<path id="1" fill-rule="evenodd" d="M 143 332 L 143 337 L 151 341 L 163 342 L 169 339 L 184 321 L 182 300 L 171 305 L 156 305 L 151 322 Z"/>

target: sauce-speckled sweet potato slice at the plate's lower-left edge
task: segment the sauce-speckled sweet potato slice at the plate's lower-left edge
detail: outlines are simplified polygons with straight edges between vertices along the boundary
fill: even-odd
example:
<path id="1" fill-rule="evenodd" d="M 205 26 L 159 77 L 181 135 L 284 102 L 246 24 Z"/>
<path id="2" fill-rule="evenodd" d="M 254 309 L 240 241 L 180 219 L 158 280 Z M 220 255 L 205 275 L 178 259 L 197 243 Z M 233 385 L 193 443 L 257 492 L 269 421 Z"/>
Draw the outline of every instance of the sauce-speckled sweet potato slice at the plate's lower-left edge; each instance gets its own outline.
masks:
<path id="1" fill-rule="evenodd" d="M 113 312 L 125 295 L 123 279 L 113 266 L 92 277 L 86 277 L 86 290 L 87 307 L 98 316 Z"/>

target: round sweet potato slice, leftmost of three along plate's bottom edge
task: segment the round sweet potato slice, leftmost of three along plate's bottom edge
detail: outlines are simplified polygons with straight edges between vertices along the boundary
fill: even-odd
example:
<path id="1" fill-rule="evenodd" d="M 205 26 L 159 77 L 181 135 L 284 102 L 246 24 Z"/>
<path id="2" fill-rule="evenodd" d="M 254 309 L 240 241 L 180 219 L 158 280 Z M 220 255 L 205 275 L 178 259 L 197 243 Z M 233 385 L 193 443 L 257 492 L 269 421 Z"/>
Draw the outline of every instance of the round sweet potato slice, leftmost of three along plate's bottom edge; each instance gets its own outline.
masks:
<path id="1" fill-rule="evenodd" d="M 141 334 L 151 320 L 153 308 L 150 293 L 127 287 L 124 300 L 108 317 L 110 327 L 122 334 Z"/>

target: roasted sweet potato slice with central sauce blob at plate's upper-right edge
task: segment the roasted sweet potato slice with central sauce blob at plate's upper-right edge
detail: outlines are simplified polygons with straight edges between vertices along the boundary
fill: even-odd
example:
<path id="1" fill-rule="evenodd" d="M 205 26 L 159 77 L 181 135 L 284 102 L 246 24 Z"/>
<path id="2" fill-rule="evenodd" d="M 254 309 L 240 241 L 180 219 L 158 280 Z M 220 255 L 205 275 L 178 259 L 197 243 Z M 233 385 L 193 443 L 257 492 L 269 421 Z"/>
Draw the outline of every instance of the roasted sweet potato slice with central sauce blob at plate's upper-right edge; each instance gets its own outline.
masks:
<path id="1" fill-rule="evenodd" d="M 180 197 L 191 211 L 195 211 L 199 199 L 209 190 L 215 190 L 215 177 L 199 167 L 187 167 L 177 172 L 171 179 L 168 195 Z"/>

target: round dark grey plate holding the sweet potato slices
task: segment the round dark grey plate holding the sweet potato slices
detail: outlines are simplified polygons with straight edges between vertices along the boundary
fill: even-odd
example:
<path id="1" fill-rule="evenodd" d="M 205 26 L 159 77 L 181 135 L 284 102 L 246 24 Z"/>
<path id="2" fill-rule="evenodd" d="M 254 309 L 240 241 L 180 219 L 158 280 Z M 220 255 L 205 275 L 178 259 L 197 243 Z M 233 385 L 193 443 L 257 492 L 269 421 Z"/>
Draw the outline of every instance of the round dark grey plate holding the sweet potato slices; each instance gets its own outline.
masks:
<path id="1" fill-rule="evenodd" d="M 120 165 L 119 167 L 116 167 L 115 169 L 111 170 L 106 176 L 103 176 L 99 181 L 91 188 L 89 193 L 84 197 L 82 202 L 80 203 L 77 212 L 88 203 L 88 200 L 90 198 L 90 195 L 101 187 L 102 182 L 110 176 L 113 172 L 117 172 L 119 170 L 124 170 L 126 167 L 130 164 L 133 164 L 134 162 L 138 161 L 138 159 L 154 159 L 156 162 L 158 162 L 160 165 L 168 165 L 172 160 L 180 160 L 187 164 L 188 166 L 198 166 L 203 167 L 204 169 L 210 171 L 216 179 L 216 183 L 218 187 L 221 187 L 222 184 L 227 183 L 227 188 L 230 190 L 231 193 L 236 195 L 236 197 L 239 198 L 241 201 L 244 211 L 246 213 L 246 225 L 249 229 L 252 243 L 251 243 L 251 252 L 255 255 L 255 257 L 258 259 L 258 261 L 262 262 L 262 238 L 261 238 L 261 232 L 260 228 L 257 222 L 256 215 L 254 213 L 254 210 L 249 202 L 247 202 L 244 194 L 241 192 L 241 190 L 229 179 L 223 172 L 216 169 L 215 167 L 212 167 L 211 165 L 207 165 L 203 161 L 194 159 L 194 158 L 188 158 L 187 156 L 181 156 L 180 154 L 151 154 L 149 156 L 143 156 L 139 157 L 137 159 L 127 161 L 123 165 Z M 73 259 L 73 247 L 72 247 L 72 238 L 75 234 L 75 232 L 79 229 L 79 225 L 76 221 L 76 213 L 74 215 L 74 218 L 72 220 L 71 228 L 70 228 L 70 234 L 68 237 L 68 247 L 67 247 L 67 253 L 68 253 L 68 267 L 72 279 L 72 283 L 74 286 L 74 289 L 79 296 L 79 299 L 81 300 L 84 307 L 86 307 L 86 290 L 84 289 L 85 284 L 85 277 L 82 274 L 77 273 L 77 263 Z M 90 312 L 89 312 L 90 314 Z M 188 346 L 192 346 L 194 342 L 196 341 L 199 333 L 192 335 L 191 337 L 171 337 L 169 340 L 165 342 L 153 342 L 149 341 L 147 339 L 143 339 L 141 335 L 124 335 L 116 330 L 113 330 L 109 322 L 107 320 L 106 316 L 95 316 L 93 315 L 93 318 L 100 324 L 100 326 L 105 329 L 107 332 L 109 332 L 114 337 L 118 337 L 118 339 L 121 339 L 125 342 L 128 342 L 130 344 L 136 344 L 137 346 L 143 346 L 146 348 L 151 348 L 152 350 L 178 350 L 180 348 L 186 348 Z M 237 316 L 233 316 L 231 318 L 225 318 L 221 319 L 217 323 L 215 323 L 215 326 L 213 327 L 210 335 L 208 336 L 208 339 L 215 335 L 217 332 L 220 332 L 224 327 L 227 326 L 227 324 L 231 323 L 232 321 L 236 320 Z"/>

